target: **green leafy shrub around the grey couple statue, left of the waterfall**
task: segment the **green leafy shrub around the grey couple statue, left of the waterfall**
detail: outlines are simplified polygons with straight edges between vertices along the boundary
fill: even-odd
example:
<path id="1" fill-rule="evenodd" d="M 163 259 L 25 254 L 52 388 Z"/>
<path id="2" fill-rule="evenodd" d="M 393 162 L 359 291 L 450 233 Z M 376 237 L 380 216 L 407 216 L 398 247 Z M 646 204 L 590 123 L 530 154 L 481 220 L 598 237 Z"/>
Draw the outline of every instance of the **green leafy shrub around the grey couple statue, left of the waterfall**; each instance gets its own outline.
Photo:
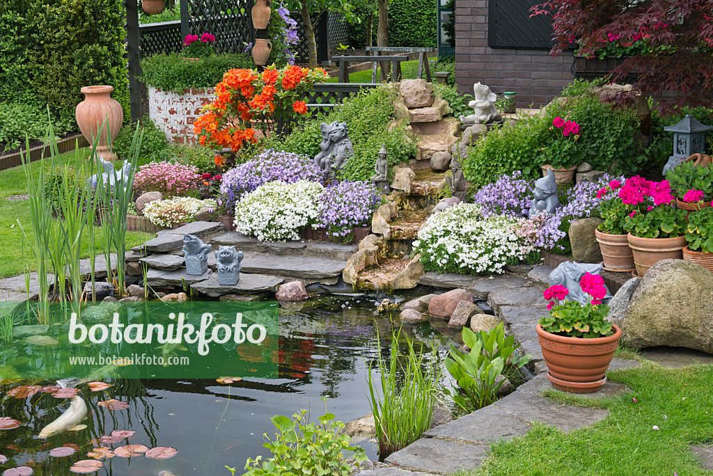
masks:
<path id="1" fill-rule="evenodd" d="M 386 145 L 389 166 L 408 160 L 416 152 L 414 138 L 405 123 L 389 127 L 394 119 L 396 91 L 389 86 L 363 89 L 344 100 L 342 105 L 327 115 L 317 115 L 304 120 L 292 130 L 282 142 L 268 145 L 277 150 L 297 152 L 314 157 L 320 152 L 322 132 L 319 124 L 335 120 L 349 125 L 349 139 L 354 145 L 354 155 L 344 167 L 342 178 L 347 180 L 369 180 L 374 175 L 374 165 L 379 157 L 381 145 Z"/>

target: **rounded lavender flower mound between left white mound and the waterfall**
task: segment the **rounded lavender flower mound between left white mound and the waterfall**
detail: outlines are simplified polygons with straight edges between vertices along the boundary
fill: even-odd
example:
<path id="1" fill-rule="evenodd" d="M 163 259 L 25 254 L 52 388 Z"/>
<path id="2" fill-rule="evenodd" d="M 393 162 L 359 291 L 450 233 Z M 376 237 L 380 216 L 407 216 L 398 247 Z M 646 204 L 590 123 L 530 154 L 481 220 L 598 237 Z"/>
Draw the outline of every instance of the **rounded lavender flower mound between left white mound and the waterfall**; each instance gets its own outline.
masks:
<path id="1" fill-rule="evenodd" d="M 320 217 L 315 226 L 333 237 L 345 237 L 352 228 L 369 224 L 381 203 L 381 194 L 367 182 L 339 182 L 324 189 L 319 198 Z"/>

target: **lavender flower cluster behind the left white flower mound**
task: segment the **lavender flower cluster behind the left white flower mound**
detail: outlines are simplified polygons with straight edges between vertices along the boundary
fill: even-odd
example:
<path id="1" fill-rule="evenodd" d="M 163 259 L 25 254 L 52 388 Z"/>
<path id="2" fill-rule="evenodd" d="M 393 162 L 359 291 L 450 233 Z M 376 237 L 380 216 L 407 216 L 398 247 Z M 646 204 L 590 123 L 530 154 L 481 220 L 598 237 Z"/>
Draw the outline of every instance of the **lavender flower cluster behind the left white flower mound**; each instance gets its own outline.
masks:
<path id="1" fill-rule="evenodd" d="M 307 155 L 267 149 L 255 159 L 228 170 L 222 175 L 218 206 L 221 211 L 234 210 L 235 204 L 248 193 L 267 182 L 299 180 L 322 182 L 324 172 Z"/>

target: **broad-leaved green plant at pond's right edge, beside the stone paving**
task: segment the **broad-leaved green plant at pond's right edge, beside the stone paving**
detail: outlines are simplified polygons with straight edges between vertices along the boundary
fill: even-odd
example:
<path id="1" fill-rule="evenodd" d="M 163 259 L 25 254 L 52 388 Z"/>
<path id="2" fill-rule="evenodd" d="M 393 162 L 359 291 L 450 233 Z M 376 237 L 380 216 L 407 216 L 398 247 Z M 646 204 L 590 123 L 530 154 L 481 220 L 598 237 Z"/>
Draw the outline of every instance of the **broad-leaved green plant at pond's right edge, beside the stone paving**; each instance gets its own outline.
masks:
<path id="1" fill-rule="evenodd" d="M 515 344 L 513 336 L 506 338 L 503 323 L 488 332 L 474 333 L 465 327 L 463 343 L 470 352 L 462 353 L 453 347 L 446 358 L 446 369 L 458 388 L 444 391 L 468 413 L 495 402 L 505 379 L 514 376 L 532 357 L 520 356 L 520 344 Z"/>

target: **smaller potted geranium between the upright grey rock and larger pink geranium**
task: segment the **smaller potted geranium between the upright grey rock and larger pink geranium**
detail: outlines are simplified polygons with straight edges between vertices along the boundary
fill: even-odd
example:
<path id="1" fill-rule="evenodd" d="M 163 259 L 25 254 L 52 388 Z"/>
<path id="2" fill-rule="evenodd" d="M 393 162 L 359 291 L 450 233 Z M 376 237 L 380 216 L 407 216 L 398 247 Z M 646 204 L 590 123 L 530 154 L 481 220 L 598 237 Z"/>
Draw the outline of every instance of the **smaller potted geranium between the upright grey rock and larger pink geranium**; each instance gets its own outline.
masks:
<path id="1" fill-rule="evenodd" d="M 632 205 L 625 205 L 618 194 L 622 187 L 620 180 L 612 180 L 597 192 L 599 213 L 602 224 L 594 230 L 595 237 L 604 259 L 607 271 L 634 271 L 634 254 L 629 247 L 628 230 L 625 219 L 633 211 Z"/>

